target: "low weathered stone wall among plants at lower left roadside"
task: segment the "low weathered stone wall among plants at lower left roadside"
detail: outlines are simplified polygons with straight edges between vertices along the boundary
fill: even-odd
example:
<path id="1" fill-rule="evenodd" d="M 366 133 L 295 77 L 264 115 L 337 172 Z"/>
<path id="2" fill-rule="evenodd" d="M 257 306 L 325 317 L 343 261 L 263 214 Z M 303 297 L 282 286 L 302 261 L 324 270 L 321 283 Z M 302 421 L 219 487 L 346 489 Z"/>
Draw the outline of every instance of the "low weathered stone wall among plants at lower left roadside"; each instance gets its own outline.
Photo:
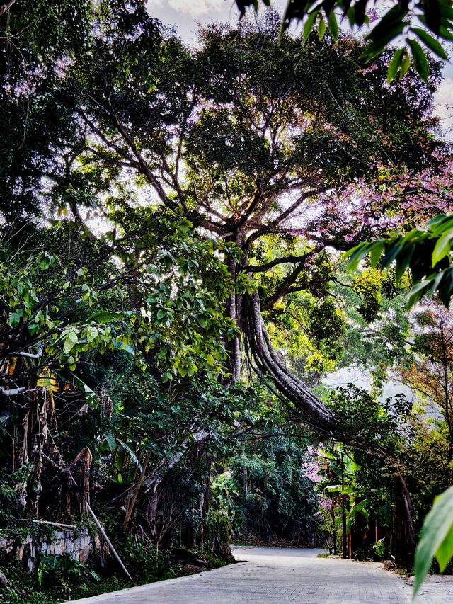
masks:
<path id="1" fill-rule="evenodd" d="M 93 551 L 93 539 L 86 527 L 70 527 L 68 525 L 47 525 L 42 529 L 39 525 L 28 534 L 17 530 L 4 529 L 0 532 L 0 550 L 8 556 L 15 557 L 28 569 L 33 570 L 40 554 L 58 556 L 69 554 L 71 557 L 86 562 Z"/>

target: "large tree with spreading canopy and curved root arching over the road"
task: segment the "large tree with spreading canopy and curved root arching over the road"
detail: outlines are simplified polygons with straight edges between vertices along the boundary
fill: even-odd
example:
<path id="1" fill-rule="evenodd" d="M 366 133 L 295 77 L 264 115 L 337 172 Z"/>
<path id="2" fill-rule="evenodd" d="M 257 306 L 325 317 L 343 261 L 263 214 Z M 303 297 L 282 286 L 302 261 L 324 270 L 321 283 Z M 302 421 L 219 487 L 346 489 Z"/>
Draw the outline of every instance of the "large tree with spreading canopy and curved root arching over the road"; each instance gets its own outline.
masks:
<path id="1" fill-rule="evenodd" d="M 384 456 L 289 370 L 262 313 L 301 290 L 328 296 L 331 250 L 363 237 L 362 224 L 345 223 L 340 204 L 326 217 L 328 201 L 358 181 L 378 185 L 383 170 L 430 164 L 440 147 L 430 119 L 435 74 L 430 84 L 411 74 L 389 88 L 385 61 L 365 64 L 359 41 L 312 37 L 302 46 L 286 38 L 278 45 L 278 29 L 273 14 L 258 27 L 212 26 L 200 32 L 200 50 L 189 52 L 159 33 L 141 3 L 117 2 L 109 11 L 99 5 L 86 52 L 64 70 L 73 95 L 70 136 L 52 137 L 46 153 L 35 153 L 42 164 L 29 193 L 54 212 L 69 212 L 109 258 L 132 263 L 130 307 L 147 309 L 151 331 L 154 324 L 166 331 L 167 339 L 147 334 L 146 350 L 154 350 L 166 379 L 193 374 L 194 354 L 207 365 L 221 362 L 226 347 L 229 377 L 222 380 L 232 384 L 246 351 L 302 421 Z M 21 186 L 18 178 L 15 194 Z M 366 207 L 366 197 L 355 203 Z M 166 227 L 177 227 L 173 239 L 162 236 L 162 214 Z M 385 215 L 385 206 L 374 207 L 367 233 L 379 232 Z M 105 236 L 93 233 L 93 217 L 110 224 Z M 197 244 L 184 241 L 188 232 L 201 240 L 200 258 L 192 257 Z M 266 258 L 270 243 L 273 257 Z M 185 261 L 176 261 L 175 249 L 185 249 Z M 233 290 L 224 304 L 228 276 Z M 217 298 L 215 283 L 222 284 Z M 208 312 L 195 302 L 204 284 Z"/>

